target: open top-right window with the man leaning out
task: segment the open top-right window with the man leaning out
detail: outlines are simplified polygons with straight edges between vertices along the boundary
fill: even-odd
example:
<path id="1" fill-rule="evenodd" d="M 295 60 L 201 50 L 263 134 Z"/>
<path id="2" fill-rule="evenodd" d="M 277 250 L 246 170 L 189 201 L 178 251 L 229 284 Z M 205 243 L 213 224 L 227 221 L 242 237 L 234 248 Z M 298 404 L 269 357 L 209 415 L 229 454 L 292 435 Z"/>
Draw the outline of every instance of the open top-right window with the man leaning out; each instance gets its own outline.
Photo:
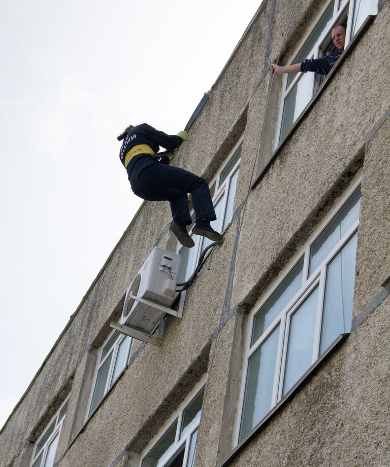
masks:
<path id="1" fill-rule="evenodd" d="M 306 34 L 298 52 L 287 64 L 316 59 L 334 50 L 332 29 L 336 24 L 346 26 L 344 48 L 370 14 L 375 14 L 377 0 L 331 0 L 320 11 L 314 27 Z M 324 77 L 314 73 L 289 73 L 283 76 L 280 112 L 275 146 L 288 134 L 294 122 L 323 82 Z"/>

